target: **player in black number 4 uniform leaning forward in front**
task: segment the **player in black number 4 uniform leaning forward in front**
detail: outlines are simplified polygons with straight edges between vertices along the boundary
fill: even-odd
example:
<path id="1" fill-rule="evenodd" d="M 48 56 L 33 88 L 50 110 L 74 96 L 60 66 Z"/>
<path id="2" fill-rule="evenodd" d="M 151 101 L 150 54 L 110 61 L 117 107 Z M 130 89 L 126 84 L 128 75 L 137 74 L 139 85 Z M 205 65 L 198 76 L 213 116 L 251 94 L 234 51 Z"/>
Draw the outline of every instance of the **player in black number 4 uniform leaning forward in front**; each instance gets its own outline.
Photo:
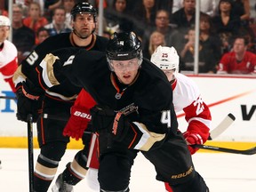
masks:
<path id="1" fill-rule="evenodd" d="M 164 73 L 142 58 L 135 34 L 115 33 L 107 57 L 105 52 L 65 49 L 47 55 L 47 60 L 54 62 L 42 63 L 40 70 L 48 74 L 42 83 L 51 80 L 51 88 L 68 78 L 98 103 L 91 109 L 91 123 L 99 135 L 101 192 L 129 191 L 139 151 L 154 164 L 156 180 L 168 182 L 173 192 L 209 191 L 178 130 L 172 88 Z"/>

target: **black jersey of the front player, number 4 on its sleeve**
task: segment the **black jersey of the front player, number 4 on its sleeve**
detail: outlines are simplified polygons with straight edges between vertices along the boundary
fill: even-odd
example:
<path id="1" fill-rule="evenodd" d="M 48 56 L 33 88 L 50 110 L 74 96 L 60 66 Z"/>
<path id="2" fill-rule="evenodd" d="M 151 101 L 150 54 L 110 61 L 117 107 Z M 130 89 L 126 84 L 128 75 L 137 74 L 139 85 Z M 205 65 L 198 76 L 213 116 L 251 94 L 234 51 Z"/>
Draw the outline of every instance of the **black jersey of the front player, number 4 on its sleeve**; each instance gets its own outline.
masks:
<path id="1" fill-rule="evenodd" d="M 69 58 L 68 52 L 71 54 Z M 52 71 L 48 71 L 48 74 L 54 74 L 48 79 L 56 77 L 52 82 L 62 84 L 68 77 L 71 82 L 82 85 L 98 104 L 116 112 L 122 111 L 130 122 L 144 124 L 148 132 L 177 132 L 172 88 L 164 73 L 149 60 L 143 60 L 136 81 L 125 85 L 109 70 L 106 52 L 79 50 L 76 53 L 75 50 L 72 55 L 71 49 L 61 49 L 52 52 L 50 57 L 60 58 L 55 60 Z M 51 65 L 46 62 L 42 67 L 46 70 Z M 119 93 L 122 93 L 121 98 L 116 97 Z"/>

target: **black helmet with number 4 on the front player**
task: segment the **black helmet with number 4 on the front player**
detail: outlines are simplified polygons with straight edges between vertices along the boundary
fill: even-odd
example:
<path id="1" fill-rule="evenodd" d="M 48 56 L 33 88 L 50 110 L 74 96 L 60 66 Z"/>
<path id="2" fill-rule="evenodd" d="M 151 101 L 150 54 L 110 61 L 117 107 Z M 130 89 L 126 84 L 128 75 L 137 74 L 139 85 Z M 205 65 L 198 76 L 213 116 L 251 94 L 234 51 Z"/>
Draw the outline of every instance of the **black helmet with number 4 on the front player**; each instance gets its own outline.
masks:
<path id="1" fill-rule="evenodd" d="M 140 39 L 133 32 L 114 33 L 107 45 L 108 60 L 142 60 Z"/>

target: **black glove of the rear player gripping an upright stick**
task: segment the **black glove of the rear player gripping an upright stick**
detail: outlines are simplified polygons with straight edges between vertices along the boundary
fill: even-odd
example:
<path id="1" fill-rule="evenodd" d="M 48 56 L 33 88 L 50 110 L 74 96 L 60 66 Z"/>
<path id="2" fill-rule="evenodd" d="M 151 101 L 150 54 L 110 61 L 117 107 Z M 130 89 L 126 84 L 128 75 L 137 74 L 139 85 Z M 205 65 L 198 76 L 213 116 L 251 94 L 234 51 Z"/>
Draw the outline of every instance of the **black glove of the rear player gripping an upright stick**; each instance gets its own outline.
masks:
<path id="1" fill-rule="evenodd" d="M 17 96 L 17 119 L 28 122 L 28 115 L 32 115 L 33 122 L 39 116 L 39 109 L 42 106 L 44 91 L 37 88 L 28 79 L 22 82 L 16 91 Z"/>

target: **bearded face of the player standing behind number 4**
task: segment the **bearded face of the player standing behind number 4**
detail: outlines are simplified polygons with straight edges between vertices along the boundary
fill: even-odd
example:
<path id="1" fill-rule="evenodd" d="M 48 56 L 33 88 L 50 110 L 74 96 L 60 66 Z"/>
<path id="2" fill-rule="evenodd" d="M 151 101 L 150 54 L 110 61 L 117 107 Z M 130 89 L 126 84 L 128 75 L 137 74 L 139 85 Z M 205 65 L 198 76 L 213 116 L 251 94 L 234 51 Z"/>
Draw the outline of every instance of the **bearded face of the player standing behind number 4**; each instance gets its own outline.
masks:
<path id="1" fill-rule="evenodd" d="M 73 28 L 79 36 L 87 38 L 91 36 L 92 31 L 96 27 L 93 20 L 93 15 L 90 13 L 81 13 L 76 15 L 76 20 L 73 21 Z"/>

